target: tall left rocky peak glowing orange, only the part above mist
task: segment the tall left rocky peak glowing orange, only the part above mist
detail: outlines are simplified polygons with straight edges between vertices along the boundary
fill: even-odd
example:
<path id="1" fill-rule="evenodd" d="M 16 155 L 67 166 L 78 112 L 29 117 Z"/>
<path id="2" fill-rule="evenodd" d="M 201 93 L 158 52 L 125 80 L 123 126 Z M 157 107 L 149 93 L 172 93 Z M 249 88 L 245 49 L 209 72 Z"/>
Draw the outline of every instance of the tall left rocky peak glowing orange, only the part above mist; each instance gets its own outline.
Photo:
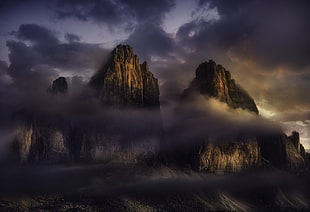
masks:
<path id="1" fill-rule="evenodd" d="M 132 47 L 118 45 L 110 60 L 90 80 L 104 105 L 159 107 L 158 81 Z"/>

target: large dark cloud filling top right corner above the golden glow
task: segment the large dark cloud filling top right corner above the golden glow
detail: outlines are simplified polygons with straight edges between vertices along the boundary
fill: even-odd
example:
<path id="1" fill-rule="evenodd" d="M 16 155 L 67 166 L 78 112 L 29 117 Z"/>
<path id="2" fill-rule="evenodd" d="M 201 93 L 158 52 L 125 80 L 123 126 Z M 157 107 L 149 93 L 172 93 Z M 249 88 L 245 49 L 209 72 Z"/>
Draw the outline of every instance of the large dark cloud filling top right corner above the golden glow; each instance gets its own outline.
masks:
<path id="1" fill-rule="evenodd" d="M 221 18 L 183 26 L 183 37 L 196 32 L 185 40 L 191 45 L 215 45 L 266 68 L 287 65 L 298 71 L 309 65 L 308 1 L 200 1 L 199 7 L 217 8 Z"/>

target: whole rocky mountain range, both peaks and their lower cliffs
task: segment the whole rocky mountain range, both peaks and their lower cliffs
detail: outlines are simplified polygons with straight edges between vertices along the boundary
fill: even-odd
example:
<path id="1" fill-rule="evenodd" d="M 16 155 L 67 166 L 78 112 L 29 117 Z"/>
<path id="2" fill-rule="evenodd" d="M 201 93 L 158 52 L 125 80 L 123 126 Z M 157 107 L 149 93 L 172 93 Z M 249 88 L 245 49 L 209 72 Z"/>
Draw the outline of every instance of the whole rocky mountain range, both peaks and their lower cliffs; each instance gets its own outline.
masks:
<path id="1" fill-rule="evenodd" d="M 158 80 L 146 62 L 139 63 L 128 45 L 118 45 L 112 51 L 89 86 L 101 103 L 95 117 L 78 119 L 66 116 L 65 111 L 54 114 L 35 109 L 14 115 L 17 134 L 13 150 L 18 160 L 140 163 L 161 158 L 164 162 L 208 172 L 239 172 L 266 164 L 291 171 L 304 167 L 305 151 L 297 132 L 291 136 L 281 132 L 266 135 L 239 132 L 230 136 L 182 137 L 180 129 L 186 132 L 194 126 L 179 121 L 163 136 Z M 69 103 L 66 93 L 66 79 L 59 77 L 46 95 L 51 103 L 60 99 Z M 195 78 L 182 94 L 180 106 L 197 94 L 258 114 L 253 98 L 235 83 L 229 71 L 212 60 L 198 66 Z M 84 97 L 79 97 L 80 101 L 87 101 Z"/>

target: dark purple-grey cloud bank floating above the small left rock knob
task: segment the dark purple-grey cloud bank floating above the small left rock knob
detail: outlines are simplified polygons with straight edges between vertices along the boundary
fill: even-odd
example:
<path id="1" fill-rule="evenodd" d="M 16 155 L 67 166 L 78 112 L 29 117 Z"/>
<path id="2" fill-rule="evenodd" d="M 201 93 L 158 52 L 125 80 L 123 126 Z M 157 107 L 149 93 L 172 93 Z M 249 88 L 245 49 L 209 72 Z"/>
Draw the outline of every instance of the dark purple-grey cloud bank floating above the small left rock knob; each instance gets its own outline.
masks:
<path id="1" fill-rule="evenodd" d="M 86 76 L 101 65 L 107 54 L 97 44 L 72 42 L 78 39 L 73 34 L 66 34 L 70 43 L 61 43 L 56 33 L 35 24 L 21 25 L 12 34 L 20 41 L 7 41 L 11 62 L 9 73 L 15 81 L 20 79 L 17 86 L 21 87 L 27 86 L 29 80 L 35 81 L 36 77 L 37 82 L 43 78 L 51 80 L 59 72 L 82 72 Z M 28 41 L 32 44 L 27 45 Z M 46 81 L 42 83 L 46 84 Z"/>

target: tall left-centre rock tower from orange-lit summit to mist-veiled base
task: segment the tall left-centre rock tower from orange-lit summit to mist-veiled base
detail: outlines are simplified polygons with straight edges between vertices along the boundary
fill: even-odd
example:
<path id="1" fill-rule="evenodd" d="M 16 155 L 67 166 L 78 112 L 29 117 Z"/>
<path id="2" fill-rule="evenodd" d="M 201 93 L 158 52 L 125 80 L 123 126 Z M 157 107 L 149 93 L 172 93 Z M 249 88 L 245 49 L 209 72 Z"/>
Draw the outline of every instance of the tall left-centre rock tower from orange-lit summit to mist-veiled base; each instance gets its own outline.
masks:
<path id="1" fill-rule="evenodd" d="M 95 145 L 90 146 L 93 158 L 135 163 L 141 158 L 157 155 L 161 131 L 159 87 L 147 63 L 140 64 L 130 46 L 118 45 L 108 62 L 91 78 L 89 85 L 97 92 L 103 108 L 112 108 L 112 113 L 116 109 L 117 113 L 125 116 L 131 110 L 138 117 L 151 114 L 150 119 L 142 118 L 144 123 L 136 124 L 132 132 L 128 132 L 129 126 L 128 129 L 122 129 L 115 124 L 121 117 L 117 121 L 108 120 L 104 126 L 93 129 L 95 136 L 91 143 Z M 140 139 L 141 136 L 143 139 Z"/>

